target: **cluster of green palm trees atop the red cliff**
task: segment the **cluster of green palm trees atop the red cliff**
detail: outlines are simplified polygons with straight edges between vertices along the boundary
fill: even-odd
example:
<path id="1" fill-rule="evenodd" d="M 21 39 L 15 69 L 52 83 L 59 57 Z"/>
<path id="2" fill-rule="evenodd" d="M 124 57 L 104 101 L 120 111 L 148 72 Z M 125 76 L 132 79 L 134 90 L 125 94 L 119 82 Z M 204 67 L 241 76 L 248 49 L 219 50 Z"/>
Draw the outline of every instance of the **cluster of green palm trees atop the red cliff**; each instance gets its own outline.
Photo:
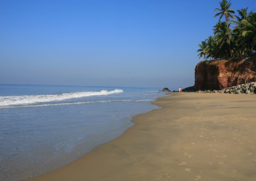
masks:
<path id="1" fill-rule="evenodd" d="M 255 55 L 256 13 L 247 13 L 247 7 L 237 10 L 238 15 L 233 15 L 235 11 L 230 9 L 230 1 L 222 0 L 219 4 L 220 9 L 214 10 L 218 11 L 214 17 L 219 17 L 219 22 L 213 27 L 213 36 L 198 45 L 199 58 L 230 59 Z M 225 21 L 221 21 L 222 18 Z"/>

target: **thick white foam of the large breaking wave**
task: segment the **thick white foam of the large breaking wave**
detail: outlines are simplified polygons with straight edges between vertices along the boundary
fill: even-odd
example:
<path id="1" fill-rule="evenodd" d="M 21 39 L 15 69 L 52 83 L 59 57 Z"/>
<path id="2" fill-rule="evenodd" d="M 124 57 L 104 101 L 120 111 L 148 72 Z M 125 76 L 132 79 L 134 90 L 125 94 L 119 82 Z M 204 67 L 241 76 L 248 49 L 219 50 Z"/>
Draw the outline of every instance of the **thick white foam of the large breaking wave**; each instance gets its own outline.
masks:
<path id="1" fill-rule="evenodd" d="M 101 96 L 101 95 L 109 95 L 109 94 L 115 94 L 115 93 L 123 93 L 123 90 L 115 89 L 114 91 L 102 90 L 98 92 L 76 92 L 76 93 L 49 94 L 49 95 L 0 96 L 0 106 L 62 101 L 62 100 L 67 100 L 69 98 Z"/>

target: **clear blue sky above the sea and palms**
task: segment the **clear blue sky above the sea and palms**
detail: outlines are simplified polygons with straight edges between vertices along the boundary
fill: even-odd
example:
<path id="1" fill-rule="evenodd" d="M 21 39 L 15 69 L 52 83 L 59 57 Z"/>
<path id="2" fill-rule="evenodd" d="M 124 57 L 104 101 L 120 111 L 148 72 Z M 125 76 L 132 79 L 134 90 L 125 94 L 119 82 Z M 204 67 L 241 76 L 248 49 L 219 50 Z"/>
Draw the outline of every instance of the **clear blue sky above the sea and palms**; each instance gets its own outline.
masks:
<path id="1" fill-rule="evenodd" d="M 255 0 L 232 0 L 235 11 Z M 0 0 L 0 84 L 188 87 L 218 0 Z"/>

